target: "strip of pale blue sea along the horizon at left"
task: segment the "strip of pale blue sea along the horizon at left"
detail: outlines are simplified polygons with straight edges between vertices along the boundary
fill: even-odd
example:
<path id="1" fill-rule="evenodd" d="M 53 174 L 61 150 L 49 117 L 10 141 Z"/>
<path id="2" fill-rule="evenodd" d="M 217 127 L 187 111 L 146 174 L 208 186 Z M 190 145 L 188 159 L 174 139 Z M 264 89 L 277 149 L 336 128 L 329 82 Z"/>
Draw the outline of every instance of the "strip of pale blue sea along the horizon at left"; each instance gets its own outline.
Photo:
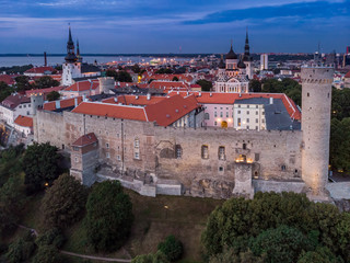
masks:
<path id="1" fill-rule="evenodd" d="M 83 61 L 93 64 L 97 60 L 97 64 L 106 64 L 112 61 L 125 61 L 130 64 L 136 62 L 149 62 L 154 57 L 138 57 L 138 56 L 84 56 Z M 163 59 L 163 58 L 162 58 Z M 168 58 L 170 59 L 170 58 Z M 177 61 L 189 60 L 188 58 L 175 58 Z M 61 65 L 65 61 L 65 57 L 47 57 L 47 64 L 49 66 Z M 22 56 L 22 57 L 0 57 L 0 67 L 12 67 L 12 66 L 23 66 L 23 65 L 34 65 L 43 66 L 44 57 L 32 57 L 32 56 Z"/>

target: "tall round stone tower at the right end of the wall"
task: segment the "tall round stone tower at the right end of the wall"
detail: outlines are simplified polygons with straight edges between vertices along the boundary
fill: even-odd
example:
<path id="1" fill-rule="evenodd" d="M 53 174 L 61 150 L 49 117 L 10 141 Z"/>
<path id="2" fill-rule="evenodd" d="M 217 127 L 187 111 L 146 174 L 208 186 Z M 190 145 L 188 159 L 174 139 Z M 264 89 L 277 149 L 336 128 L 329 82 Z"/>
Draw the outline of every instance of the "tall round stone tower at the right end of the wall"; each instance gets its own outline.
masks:
<path id="1" fill-rule="evenodd" d="M 308 196 L 327 199 L 330 102 L 334 68 L 302 67 L 302 178 Z"/>

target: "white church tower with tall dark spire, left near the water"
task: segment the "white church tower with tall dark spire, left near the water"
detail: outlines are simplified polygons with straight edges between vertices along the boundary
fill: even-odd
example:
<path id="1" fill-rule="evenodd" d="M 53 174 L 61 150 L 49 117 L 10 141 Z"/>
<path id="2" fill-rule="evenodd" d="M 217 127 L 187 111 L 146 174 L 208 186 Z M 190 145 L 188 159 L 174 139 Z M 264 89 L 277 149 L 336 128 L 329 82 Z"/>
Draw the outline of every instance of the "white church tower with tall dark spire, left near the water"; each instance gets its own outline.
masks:
<path id="1" fill-rule="evenodd" d="M 62 84 L 71 85 L 73 84 L 73 78 L 81 77 L 81 62 L 78 61 L 78 57 L 75 56 L 70 26 L 65 60 L 66 62 L 62 65 Z"/>

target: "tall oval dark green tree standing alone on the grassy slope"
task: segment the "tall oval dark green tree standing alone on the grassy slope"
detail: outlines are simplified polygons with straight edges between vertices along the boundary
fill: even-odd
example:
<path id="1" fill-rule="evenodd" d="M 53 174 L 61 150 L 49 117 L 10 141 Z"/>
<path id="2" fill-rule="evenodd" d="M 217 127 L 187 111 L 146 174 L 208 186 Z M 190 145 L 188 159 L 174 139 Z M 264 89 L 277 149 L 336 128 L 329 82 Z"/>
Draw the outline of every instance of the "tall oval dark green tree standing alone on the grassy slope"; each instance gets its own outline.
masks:
<path id="1" fill-rule="evenodd" d="M 86 203 L 88 241 L 97 251 L 119 249 L 133 221 L 132 204 L 117 181 L 95 185 Z"/>

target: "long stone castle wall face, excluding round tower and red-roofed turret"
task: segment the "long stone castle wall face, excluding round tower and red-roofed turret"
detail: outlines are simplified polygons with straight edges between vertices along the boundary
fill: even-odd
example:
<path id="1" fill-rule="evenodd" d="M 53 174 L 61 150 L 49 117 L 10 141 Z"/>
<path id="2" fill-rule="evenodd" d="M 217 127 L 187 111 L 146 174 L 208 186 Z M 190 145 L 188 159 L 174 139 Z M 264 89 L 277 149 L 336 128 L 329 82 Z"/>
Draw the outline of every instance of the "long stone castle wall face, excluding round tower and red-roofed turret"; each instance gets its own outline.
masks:
<path id="1" fill-rule="evenodd" d="M 236 160 L 250 163 L 252 171 L 247 176 L 301 181 L 302 133 L 298 130 L 164 128 L 153 123 L 71 112 L 38 111 L 37 117 L 39 142 L 65 145 L 66 150 L 71 151 L 71 144 L 84 130 L 85 134 L 94 133 L 98 139 L 100 163 L 110 167 L 114 173 L 140 180 L 144 185 L 172 180 L 177 185 L 172 186 L 177 194 L 232 196 Z M 208 147 L 206 157 L 202 146 Z"/>

